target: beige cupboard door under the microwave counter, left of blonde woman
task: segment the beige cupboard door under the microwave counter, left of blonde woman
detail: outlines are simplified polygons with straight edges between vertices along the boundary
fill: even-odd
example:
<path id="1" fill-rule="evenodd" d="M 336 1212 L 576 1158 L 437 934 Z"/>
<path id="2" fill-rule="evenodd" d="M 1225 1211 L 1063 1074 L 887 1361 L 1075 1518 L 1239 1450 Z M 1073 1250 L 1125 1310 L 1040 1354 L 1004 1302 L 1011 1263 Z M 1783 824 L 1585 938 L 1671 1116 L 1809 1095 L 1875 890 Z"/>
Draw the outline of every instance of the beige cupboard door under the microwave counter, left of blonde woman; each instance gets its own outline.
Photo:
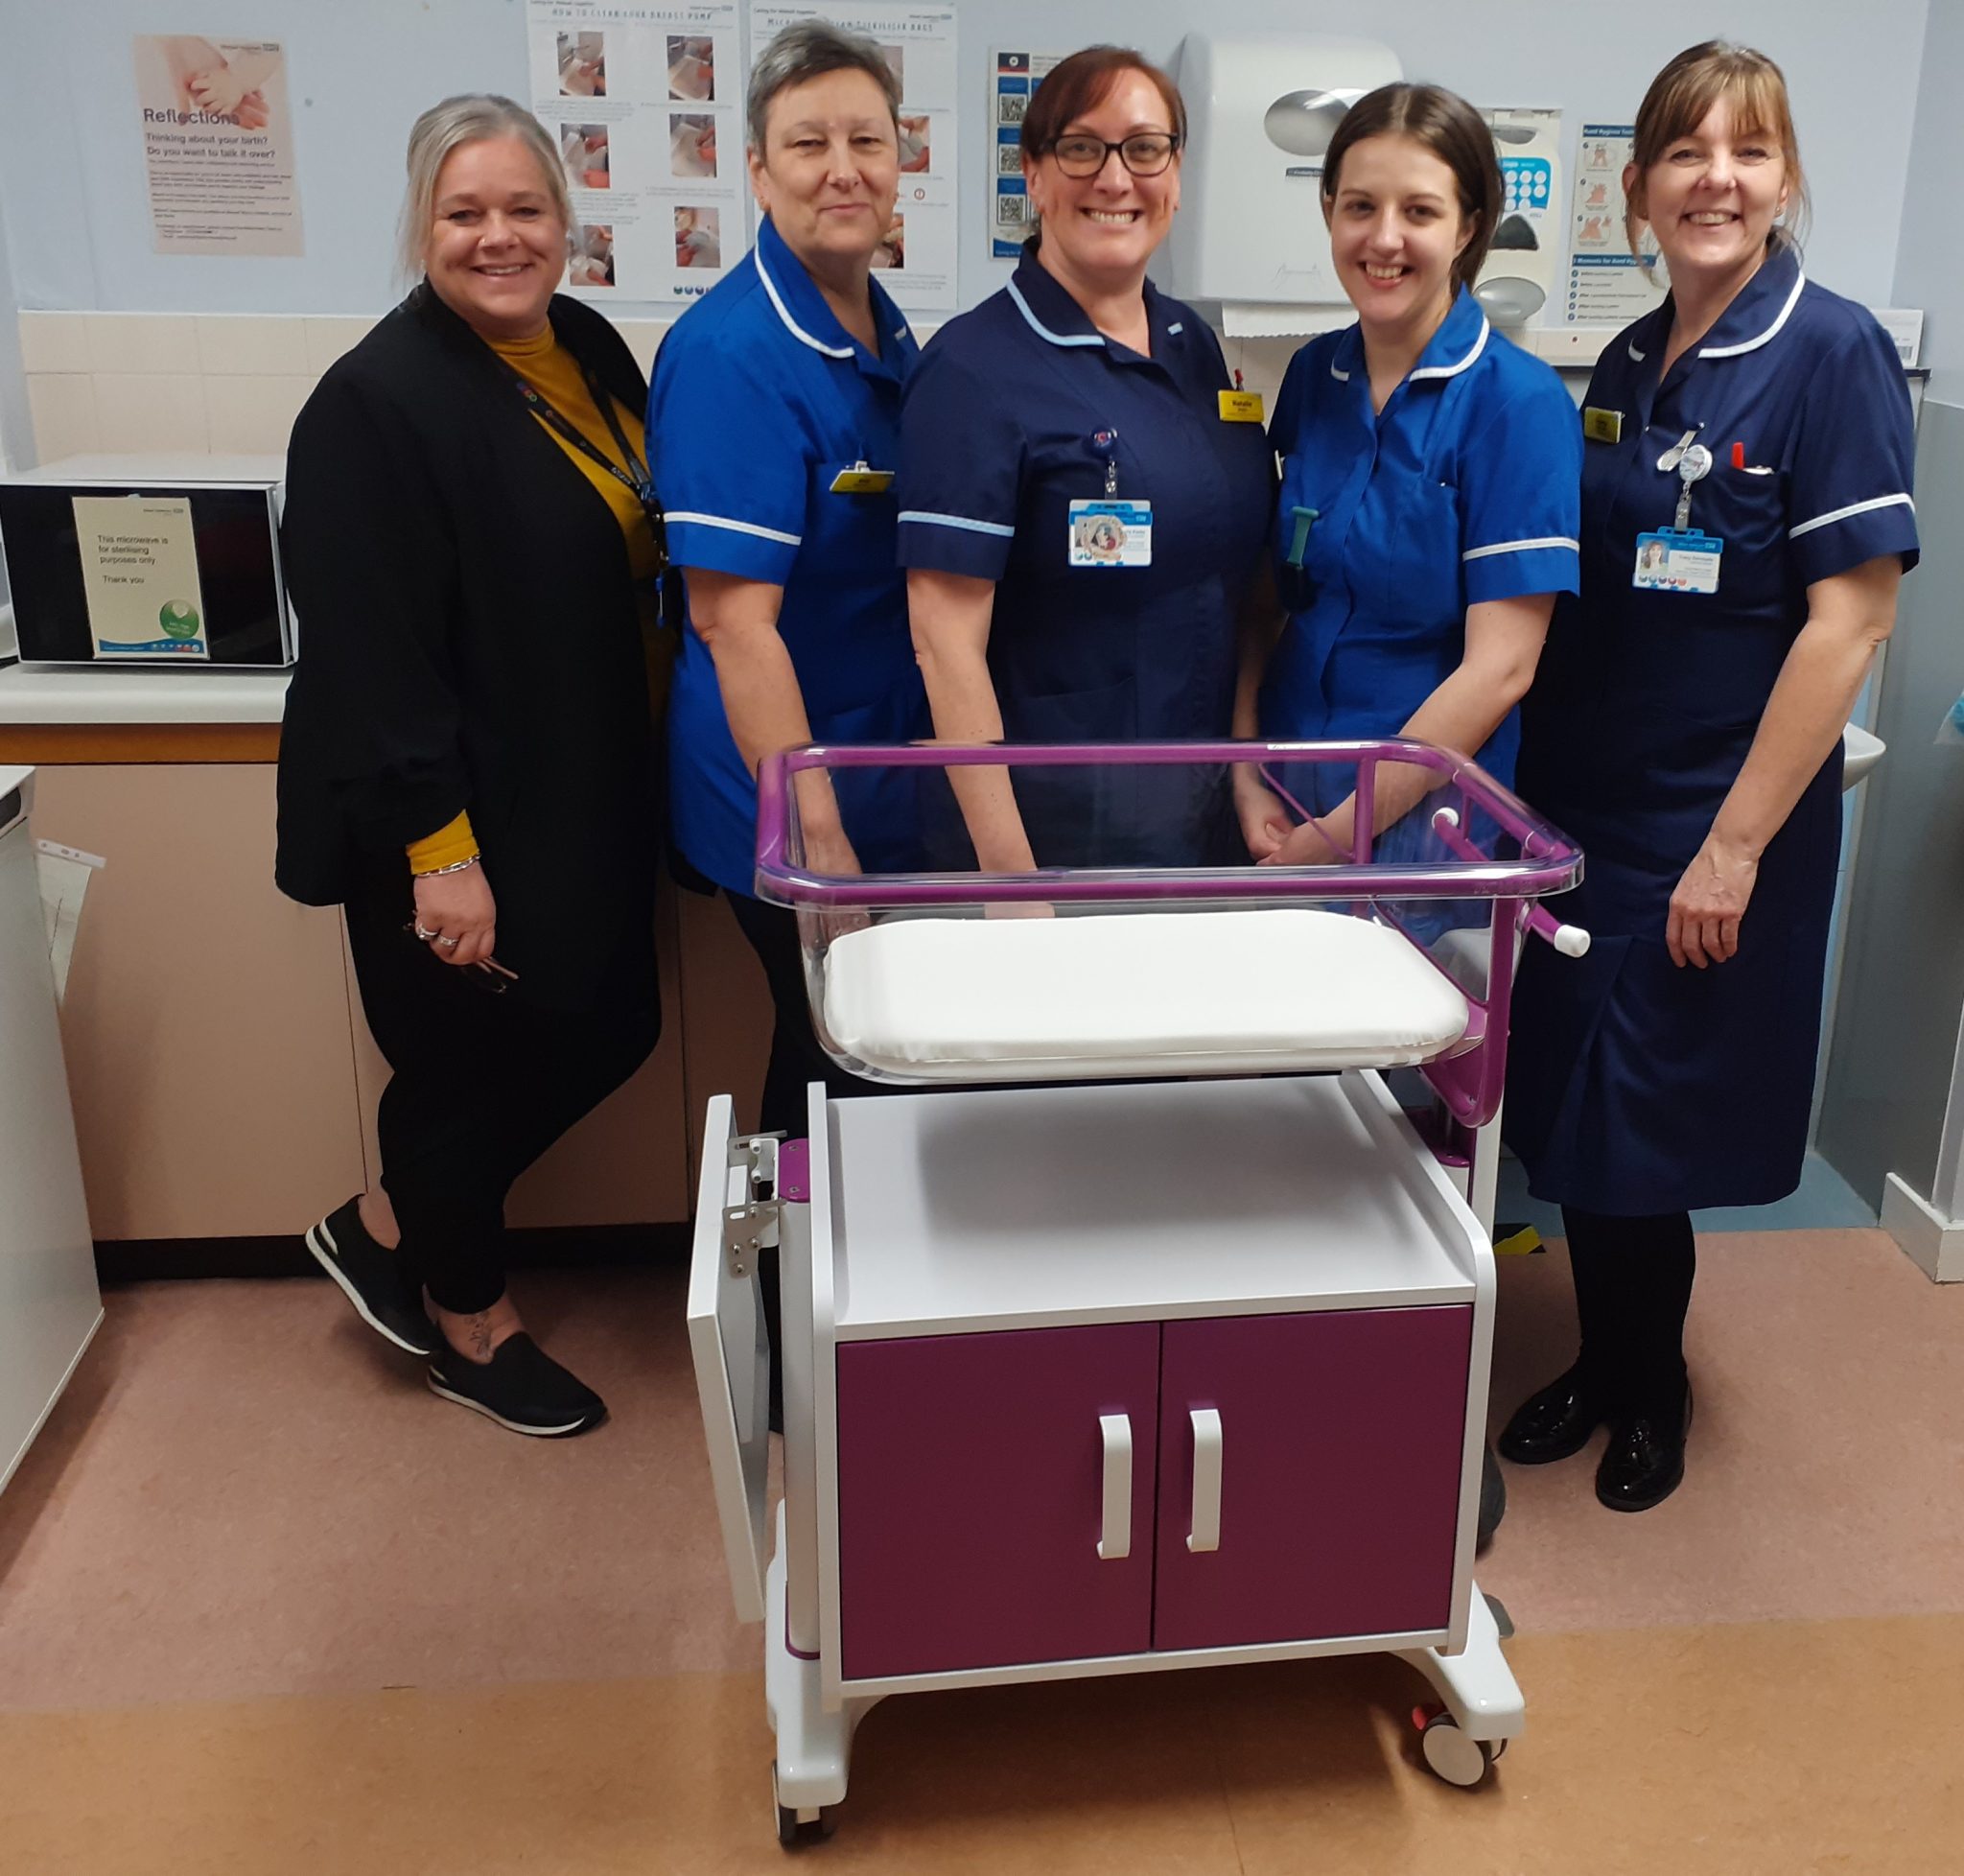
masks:
<path id="1" fill-rule="evenodd" d="M 302 1232 L 363 1179 L 340 913 L 273 886 L 271 764 L 47 766 L 90 880 L 61 1016 L 98 1240 Z"/>

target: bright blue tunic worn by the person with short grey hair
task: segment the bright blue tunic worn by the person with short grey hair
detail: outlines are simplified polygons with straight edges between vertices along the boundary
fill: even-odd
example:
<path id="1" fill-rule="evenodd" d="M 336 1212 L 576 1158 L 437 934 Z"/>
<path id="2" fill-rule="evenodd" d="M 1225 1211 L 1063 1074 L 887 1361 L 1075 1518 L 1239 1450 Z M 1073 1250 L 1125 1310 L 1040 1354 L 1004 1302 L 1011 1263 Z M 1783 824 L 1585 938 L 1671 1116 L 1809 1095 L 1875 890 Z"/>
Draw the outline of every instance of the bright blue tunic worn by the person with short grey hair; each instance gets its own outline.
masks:
<path id="1" fill-rule="evenodd" d="M 874 487 L 900 454 L 900 391 L 917 348 L 872 281 L 880 352 L 854 340 L 766 216 L 756 248 L 662 342 L 648 464 L 668 552 L 784 587 L 778 633 L 825 743 L 905 743 L 927 727 L 894 558 L 898 505 Z M 683 631 L 668 711 L 670 815 L 682 856 L 729 892 L 754 890 L 756 784 L 731 737 L 715 662 Z M 905 864 L 901 776 L 841 788 L 862 864 Z"/>

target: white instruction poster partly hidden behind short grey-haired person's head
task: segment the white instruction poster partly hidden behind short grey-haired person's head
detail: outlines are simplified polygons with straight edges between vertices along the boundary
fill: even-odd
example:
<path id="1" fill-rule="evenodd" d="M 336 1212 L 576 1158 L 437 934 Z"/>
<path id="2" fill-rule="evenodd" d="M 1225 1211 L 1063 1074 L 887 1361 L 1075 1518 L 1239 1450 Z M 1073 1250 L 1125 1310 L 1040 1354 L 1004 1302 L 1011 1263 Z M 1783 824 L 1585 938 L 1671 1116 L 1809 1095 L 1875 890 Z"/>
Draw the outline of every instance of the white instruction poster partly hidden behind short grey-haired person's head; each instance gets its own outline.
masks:
<path id="1" fill-rule="evenodd" d="M 903 312 L 955 312 L 955 8 L 756 0 L 750 57 L 795 20 L 831 20 L 886 53 L 900 81 L 900 198 L 872 263 Z"/>

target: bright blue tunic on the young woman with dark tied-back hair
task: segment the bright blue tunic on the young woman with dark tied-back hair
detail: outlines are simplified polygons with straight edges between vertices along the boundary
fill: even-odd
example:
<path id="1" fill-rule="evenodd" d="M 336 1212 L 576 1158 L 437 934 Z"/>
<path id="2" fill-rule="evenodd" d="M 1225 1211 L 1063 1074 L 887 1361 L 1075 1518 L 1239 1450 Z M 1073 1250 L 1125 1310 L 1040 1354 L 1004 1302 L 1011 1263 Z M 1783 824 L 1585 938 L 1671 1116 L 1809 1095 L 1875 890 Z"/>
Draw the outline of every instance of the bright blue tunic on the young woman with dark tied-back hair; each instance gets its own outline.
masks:
<path id="1" fill-rule="evenodd" d="M 1282 458 L 1275 544 L 1290 611 L 1261 693 L 1263 735 L 1394 735 L 1459 666 L 1469 605 L 1575 591 L 1575 405 L 1463 289 L 1383 413 L 1363 332 L 1347 326 L 1290 359 L 1269 434 Z M 1518 739 L 1510 711 L 1475 758 L 1510 784 Z M 1349 792 L 1349 774 L 1330 766 L 1300 776 L 1320 796 Z"/>

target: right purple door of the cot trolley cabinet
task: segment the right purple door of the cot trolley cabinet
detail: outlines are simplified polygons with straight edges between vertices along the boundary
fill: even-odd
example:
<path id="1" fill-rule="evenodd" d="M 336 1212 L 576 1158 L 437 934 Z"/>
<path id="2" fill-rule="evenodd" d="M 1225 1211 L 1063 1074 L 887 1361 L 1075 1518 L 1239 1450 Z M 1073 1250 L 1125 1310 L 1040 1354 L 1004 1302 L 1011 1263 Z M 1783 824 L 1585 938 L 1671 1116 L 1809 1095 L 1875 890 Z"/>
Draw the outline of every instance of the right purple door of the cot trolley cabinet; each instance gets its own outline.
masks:
<path id="1" fill-rule="evenodd" d="M 1471 1338 L 1463 1306 L 1169 1322 L 1153 1646 L 1447 1627 Z"/>

